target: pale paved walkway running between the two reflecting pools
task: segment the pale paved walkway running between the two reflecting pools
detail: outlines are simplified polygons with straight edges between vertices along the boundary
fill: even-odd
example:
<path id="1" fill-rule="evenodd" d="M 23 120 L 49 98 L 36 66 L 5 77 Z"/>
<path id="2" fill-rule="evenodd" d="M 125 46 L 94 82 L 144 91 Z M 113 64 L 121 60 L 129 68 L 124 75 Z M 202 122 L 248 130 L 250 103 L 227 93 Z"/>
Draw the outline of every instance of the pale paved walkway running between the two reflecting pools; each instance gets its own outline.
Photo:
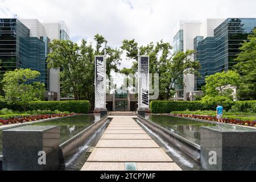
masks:
<path id="1" fill-rule="evenodd" d="M 180 171 L 180 167 L 134 121 L 113 116 L 112 122 L 81 171 Z"/>

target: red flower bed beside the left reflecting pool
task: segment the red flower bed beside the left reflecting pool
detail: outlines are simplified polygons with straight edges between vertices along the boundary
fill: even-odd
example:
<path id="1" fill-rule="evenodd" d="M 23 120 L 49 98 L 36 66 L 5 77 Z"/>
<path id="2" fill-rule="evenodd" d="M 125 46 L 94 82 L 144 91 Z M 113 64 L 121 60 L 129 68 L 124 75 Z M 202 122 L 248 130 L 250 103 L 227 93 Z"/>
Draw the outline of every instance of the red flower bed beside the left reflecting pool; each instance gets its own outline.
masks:
<path id="1" fill-rule="evenodd" d="M 72 116 L 72 115 L 75 115 L 75 114 L 44 114 L 44 115 L 35 115 L 35 116 L 29 116 L 29 117 L 0 119 L 0 123 L 2 123 L 3 125 L 9 125 L 9 124 L 14 124 L 14 123 L 39 121 L 42 119 L 49 119 L 49 118 L 67 117 L 67 116 Z"/>

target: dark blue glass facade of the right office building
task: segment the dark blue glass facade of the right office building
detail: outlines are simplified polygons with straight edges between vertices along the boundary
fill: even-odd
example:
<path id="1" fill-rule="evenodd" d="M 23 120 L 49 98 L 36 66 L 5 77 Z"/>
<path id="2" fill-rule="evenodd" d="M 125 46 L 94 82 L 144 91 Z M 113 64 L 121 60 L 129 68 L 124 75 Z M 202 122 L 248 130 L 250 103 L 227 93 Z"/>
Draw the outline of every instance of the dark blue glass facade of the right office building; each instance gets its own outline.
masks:
<path id="1" fill-rule="evenodd" d="M 228 71 L 236 62 L 241 43 L 256 27 L 256 18 L 228 18 L 214 30 L 214 37 L 194 39 L 195 60 L 201 63 L 201 77 L 195 78 L 195 90 L 205 85 L 205 77 Z"/>

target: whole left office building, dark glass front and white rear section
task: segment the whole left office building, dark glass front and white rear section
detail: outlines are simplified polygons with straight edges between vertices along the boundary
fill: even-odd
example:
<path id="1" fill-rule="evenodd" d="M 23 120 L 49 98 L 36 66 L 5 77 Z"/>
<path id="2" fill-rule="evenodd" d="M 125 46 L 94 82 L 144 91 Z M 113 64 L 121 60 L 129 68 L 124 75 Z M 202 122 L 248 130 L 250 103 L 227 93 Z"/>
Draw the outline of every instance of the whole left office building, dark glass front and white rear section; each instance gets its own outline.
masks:
<path id="1" fill-rule="evenodd" d="M 40 72 L 36 81 L 60 100 L 59 70 L 48 70 L 48 43 L 53 39 L 69 39 L 64 22 L 44 22 L 37 19 L 0 19 L 1 73 L 16 68 L 30 68 Z"/>

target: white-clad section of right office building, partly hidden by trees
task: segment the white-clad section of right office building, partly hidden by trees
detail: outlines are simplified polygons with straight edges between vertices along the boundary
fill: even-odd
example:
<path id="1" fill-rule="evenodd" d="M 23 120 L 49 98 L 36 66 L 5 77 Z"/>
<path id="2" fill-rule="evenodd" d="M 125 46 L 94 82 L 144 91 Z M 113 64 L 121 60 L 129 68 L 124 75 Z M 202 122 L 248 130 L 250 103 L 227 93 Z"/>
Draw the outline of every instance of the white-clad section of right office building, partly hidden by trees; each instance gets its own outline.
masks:
<path id="1" fill-rule="evenodd" d="M 177 51 L 185 52 L 188 49 L 197 50 L 197 46 L 200 45 L 200 43 L 202 43 L 204 39 L 208 39 L 209 41 L 213 39 L 215 29 L 220 26 L 220 24 L 224 21 L 225 19 L 206 19 L 204 22 L 180 21 L 174 28 L 174 53 L 176 53 Z M 200 56 L 198 53 L 199 52 L 197 52 L 196 55 L 192 56 L 191 60 L 200 61 Z M 197 85 L 195 84 L 195 82 L 197 82 L 197 80 L 204 80 L 204 78 L 197 78 L 191 74 L 181 74 L 181 79 L 183 79 L 184 86 L 175 85 L 175 100 L 195 100 L 195 96 L 200 96 L 202 94 L 200 92 L 200 89 L 197 89 Z"/>

